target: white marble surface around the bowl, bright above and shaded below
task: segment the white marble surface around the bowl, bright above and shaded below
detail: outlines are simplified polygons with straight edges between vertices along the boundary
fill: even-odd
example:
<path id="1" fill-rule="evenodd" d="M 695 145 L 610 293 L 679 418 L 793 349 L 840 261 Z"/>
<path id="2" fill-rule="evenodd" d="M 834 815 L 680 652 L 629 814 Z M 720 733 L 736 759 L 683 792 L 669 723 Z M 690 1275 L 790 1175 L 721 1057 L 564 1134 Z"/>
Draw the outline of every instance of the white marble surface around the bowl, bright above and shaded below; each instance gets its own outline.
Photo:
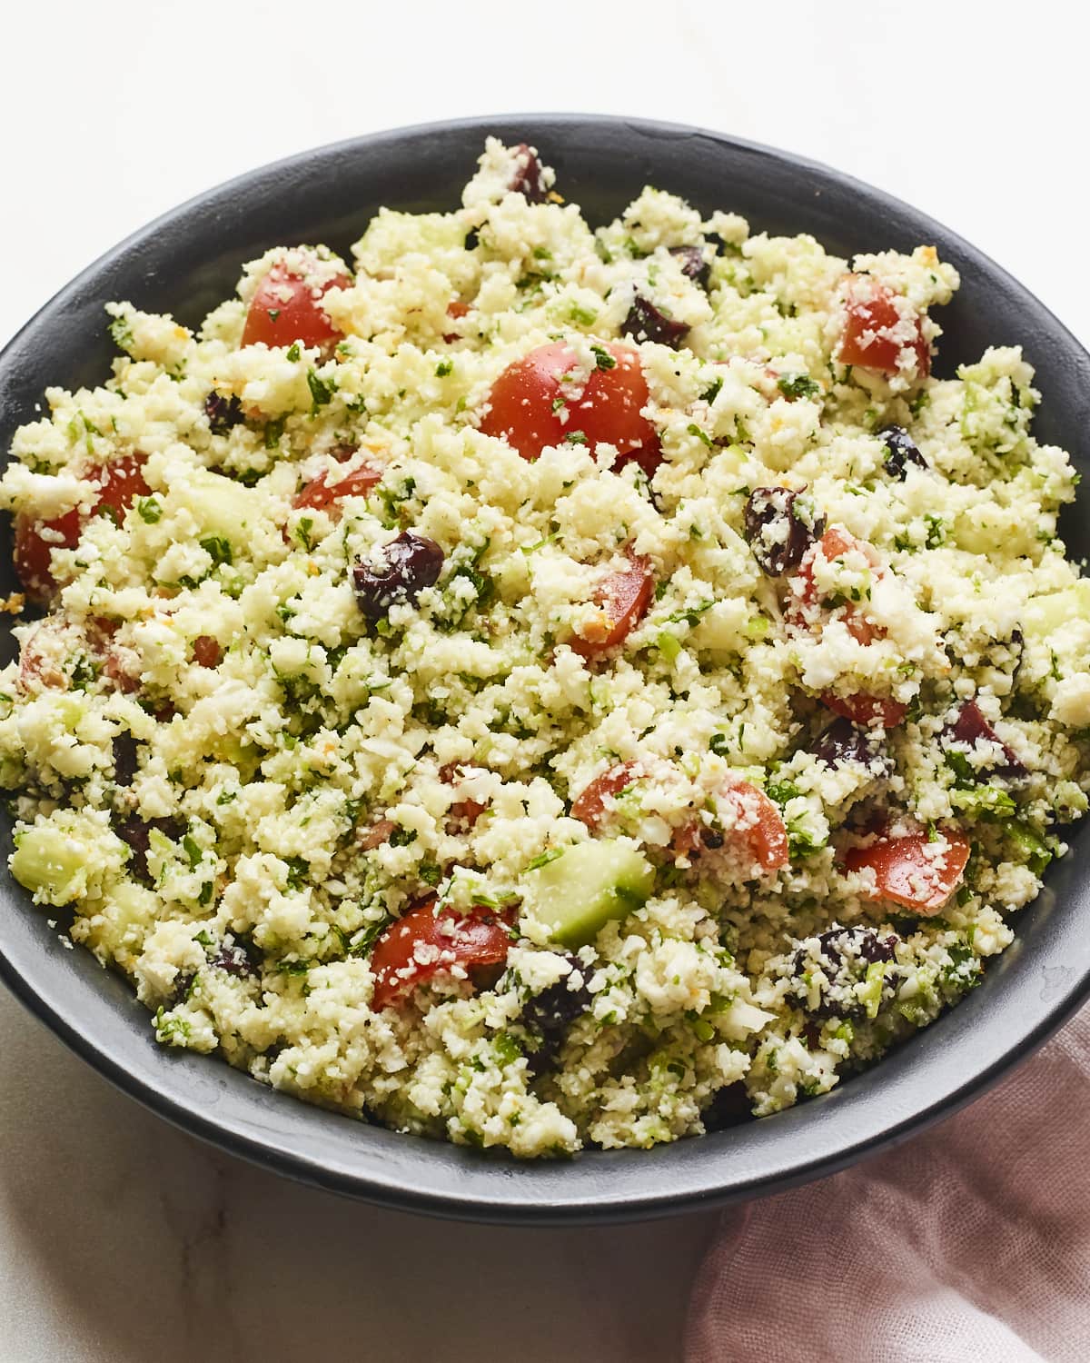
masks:
<path id="1" fill-rule="evenodd" d="M 1074 14 L 1050 0 L 20 5 L 3 20 L 0 341 L 218 180 L 357 132 L 511 109 L 698 123 L 835 164 L 976 241 L 1086 339 L 1090 25 Z M 519 1231 L 343 1202 L 178 1135 L 5 995 L 0 1094 L 3 1363 L 681 1356 L 708 1216 Z"/>

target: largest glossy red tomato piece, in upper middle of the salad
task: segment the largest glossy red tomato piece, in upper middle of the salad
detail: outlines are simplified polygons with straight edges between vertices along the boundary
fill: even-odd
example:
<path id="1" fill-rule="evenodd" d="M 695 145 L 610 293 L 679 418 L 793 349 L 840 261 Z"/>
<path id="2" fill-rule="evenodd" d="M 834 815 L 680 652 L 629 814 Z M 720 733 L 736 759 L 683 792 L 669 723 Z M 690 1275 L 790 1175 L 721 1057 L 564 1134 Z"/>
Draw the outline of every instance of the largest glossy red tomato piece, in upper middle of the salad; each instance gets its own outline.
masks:
<path id="1" fill-rule="evenodd" d="M 515 360 L 492 384 L 481 421 L 484 433 L 505 440 L 523 459 L 537 459 L 545 446 L 563 444 L 582 432 L 591 450 L 600 440 L 616 446 L 617 468 L 632 461 L 653 477 L 662 453 L 655 428 L 640 416 L 647 380 L 639 353 L 623 345 L 602 350 L 613 367 L 593 369 L 582 390 L 561 382 L 578 367 L 575 352 L 563 341 Z"/>

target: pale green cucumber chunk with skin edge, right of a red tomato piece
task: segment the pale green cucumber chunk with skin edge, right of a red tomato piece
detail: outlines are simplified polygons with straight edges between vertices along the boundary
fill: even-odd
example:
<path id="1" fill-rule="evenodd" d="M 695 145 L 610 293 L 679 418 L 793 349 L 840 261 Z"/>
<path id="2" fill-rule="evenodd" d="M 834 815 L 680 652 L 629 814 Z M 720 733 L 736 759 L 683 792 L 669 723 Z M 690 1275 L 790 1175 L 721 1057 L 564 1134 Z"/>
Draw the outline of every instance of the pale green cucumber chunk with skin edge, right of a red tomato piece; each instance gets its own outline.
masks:
<path id="1" fill-rule="evenodd" d="M 640 908 L 654 870 L 629 842 L 578 842 L 526 875 L 522 906 L 561 946 L 593 942 L 610 919 Z"/>

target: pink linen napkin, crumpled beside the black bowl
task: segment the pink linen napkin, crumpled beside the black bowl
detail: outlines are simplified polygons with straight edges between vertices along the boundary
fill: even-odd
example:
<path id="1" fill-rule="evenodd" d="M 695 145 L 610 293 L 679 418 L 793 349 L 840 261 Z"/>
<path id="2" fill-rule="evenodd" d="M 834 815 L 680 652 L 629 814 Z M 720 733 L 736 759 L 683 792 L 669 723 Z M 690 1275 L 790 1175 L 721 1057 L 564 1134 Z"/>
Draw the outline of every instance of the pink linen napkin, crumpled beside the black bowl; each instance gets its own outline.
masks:
<path id="1" fill-rule="evenodd" d="M 1090 1363 L 1090 1009 L 973 1107 L 728 1212 L 687 1363 Z"/>

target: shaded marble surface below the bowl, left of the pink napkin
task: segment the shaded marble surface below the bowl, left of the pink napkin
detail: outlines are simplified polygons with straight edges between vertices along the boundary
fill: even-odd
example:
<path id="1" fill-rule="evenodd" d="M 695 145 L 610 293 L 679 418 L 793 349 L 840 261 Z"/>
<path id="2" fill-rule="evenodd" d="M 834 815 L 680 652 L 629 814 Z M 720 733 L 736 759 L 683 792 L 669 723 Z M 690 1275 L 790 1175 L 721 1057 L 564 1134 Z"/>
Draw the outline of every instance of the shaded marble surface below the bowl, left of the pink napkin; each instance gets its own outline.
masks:
<path id="1" fill-rule="evenodd" d="M 500 1338 L 544 1363 L 568 1332 L 595 1363 L 680 1358 L 710 1213 L 550 1231 L 369 1208 L 166 1126 L 7 995 L 0 1020 L 0 1292 L 42 1293 L 34 1337 L 5 1328 L 12 1358 L 52 1330 L 41 1358 L 86 1363 L 368 1358 L 379 1341 L 394 1363 L 477 1363 Z"/>

